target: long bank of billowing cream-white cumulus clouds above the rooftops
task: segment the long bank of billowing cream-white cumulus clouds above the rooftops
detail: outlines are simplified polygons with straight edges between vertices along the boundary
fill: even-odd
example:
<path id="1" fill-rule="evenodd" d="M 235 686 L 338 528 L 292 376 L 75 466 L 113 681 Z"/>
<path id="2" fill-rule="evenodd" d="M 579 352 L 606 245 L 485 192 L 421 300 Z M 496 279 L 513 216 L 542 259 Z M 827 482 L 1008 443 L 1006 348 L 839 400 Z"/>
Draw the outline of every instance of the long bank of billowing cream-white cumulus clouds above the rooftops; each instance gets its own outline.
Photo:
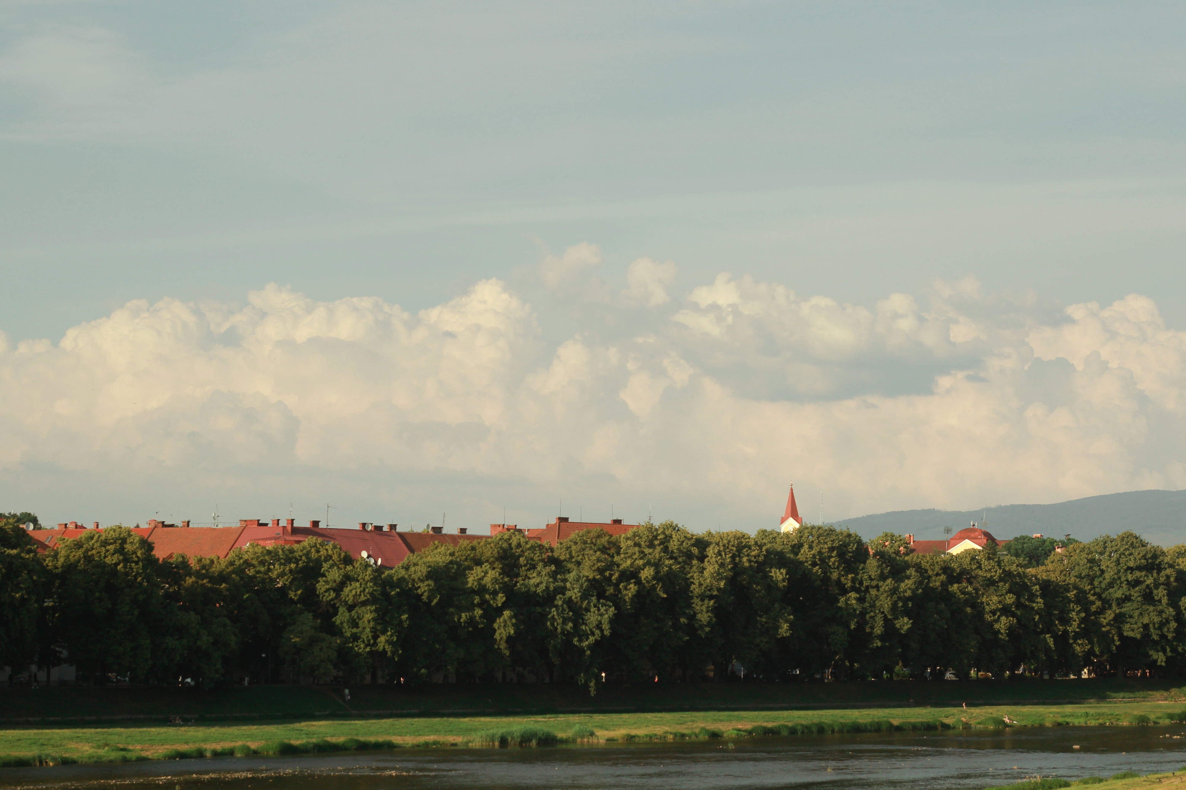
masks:
<path id="1" fill-rule="evenodd" d="M 1147 296 L 1058 309 L 968 278 L 865 307 L 731 274 L 681 290 L 649 258 L 611 288 L 600 261 L 578 245 L 535 291 L 485 280 L 416 314 L 269 284 L 242 307 L 133 301 L 56 345 L 0 335 L 6 507 L 336 496 L 346 521 L 447 506 L 476 527 L 542 520 L 559 493 L 754 528 L 791 480 L 825 520 L 1186 487 L 1186 333 Z M 557 336 L 563 294 L 597 309 Z"/>

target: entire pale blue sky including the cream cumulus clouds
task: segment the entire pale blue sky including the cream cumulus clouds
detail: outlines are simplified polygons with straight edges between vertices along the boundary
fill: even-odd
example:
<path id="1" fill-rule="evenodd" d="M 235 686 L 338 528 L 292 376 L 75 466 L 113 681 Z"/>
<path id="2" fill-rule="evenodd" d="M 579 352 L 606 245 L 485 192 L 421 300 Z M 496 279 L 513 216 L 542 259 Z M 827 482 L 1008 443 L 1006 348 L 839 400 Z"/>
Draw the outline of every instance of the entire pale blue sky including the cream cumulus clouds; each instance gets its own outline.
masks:
<path id="1" fill-rule="evenodd" d="M 1186 7 L 0 0 L 0 509 L 1186 487 Z M 504 515 L 505 514 L 505 515 Z"/>

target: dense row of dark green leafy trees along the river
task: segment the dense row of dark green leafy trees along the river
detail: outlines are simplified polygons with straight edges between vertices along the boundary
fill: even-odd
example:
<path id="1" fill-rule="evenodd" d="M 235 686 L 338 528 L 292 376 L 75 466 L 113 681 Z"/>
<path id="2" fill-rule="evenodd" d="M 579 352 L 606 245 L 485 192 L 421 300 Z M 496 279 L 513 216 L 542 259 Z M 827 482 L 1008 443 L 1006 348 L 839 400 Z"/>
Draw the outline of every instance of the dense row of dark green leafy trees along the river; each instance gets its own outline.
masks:
<path id="1" fill-rule="evenodd" d="M 23 514 L 27 515 L 27 514 Z M 940 679 L 1186 668 L 1186 546 L 1021 557 L 833 527 L 504 533 L 391 570 L 337 545 L 173 557 L 123 528 L 38 554 L 0 526 L 0 664 L 83 682 Z"/>

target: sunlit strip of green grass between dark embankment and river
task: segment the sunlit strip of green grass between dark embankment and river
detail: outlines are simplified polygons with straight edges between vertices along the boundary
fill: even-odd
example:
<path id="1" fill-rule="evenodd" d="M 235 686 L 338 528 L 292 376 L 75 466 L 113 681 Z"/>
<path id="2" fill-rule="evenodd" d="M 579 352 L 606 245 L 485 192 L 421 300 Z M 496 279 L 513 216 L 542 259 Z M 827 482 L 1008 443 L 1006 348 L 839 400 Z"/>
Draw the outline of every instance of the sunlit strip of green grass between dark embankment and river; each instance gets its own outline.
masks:
<path id="1" fill-rule="evenodd" d="M 1166 701 L 1082 705 L 850 708 L 830 711 L 668 711 L 543 713 L 288 721 L 206 720 L 161 726 L 21 725 L 0 728 L 0 765 L 128 762 L 219 754 L 283 754 L 357 749 L 550 745 L 565 741 L 760 738 L 828 732 L 997 728 L 1007 726 L 1142 726 L 1186 719 Z M 1184 730 L 1179 727 L 1178 730 Z M 1177 732 L 1177 731 L 1174 731 Z"/>

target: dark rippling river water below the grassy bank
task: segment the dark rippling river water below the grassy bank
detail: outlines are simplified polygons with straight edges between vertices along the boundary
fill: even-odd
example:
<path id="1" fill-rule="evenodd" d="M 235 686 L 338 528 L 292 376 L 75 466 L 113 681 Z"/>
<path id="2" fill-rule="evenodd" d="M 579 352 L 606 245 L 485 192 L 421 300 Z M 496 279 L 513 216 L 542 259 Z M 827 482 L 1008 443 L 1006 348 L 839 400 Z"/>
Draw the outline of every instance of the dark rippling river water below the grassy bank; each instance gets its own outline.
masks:
<path id="1" fill-rule="evenodd" d="M 1186 728 L 1180 726 L 1035 727 L 0 769 L 0 789 L 978 790 L 1034 775 L 1076 779 L 1175 771 L 1184 765 Z"/>

